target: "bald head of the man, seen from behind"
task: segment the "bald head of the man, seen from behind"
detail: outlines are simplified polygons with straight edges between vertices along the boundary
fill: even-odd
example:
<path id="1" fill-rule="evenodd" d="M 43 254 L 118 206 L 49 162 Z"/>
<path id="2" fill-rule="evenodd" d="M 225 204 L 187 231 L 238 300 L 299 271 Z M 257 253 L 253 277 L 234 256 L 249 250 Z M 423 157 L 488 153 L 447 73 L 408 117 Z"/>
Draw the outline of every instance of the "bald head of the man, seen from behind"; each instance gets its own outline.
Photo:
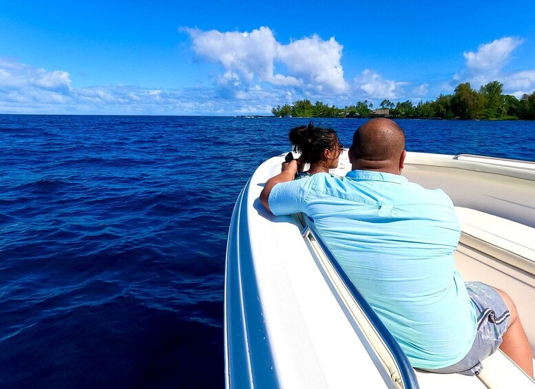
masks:
<path id="1" fill-rule="evenodd" d="M 405 134 L 387 118 L 372 119 L 353 135 L 350 162 L 353 169 L 399 174 L 405 159 Z"/>

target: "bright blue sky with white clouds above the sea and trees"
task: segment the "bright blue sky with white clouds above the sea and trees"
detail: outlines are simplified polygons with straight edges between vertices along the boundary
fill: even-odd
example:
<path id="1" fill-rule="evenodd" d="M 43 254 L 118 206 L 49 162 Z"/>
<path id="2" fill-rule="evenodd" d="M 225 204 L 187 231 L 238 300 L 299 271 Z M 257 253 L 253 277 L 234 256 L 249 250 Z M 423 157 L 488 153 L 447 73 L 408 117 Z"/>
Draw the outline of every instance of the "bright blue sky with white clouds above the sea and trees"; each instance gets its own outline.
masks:
<path id="1" fill-rule="evenodd" d="M 0 0 L 1 114 L 269 115 L 535 92 L 535 4 Z"/>

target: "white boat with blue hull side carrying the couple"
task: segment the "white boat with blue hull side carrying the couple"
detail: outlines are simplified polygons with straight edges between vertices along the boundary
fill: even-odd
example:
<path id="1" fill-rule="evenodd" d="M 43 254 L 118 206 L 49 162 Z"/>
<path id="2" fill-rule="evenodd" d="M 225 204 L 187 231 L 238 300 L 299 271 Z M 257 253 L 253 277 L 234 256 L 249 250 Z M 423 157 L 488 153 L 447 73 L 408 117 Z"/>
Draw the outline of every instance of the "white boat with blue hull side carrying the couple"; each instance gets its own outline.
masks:
<path id="1" fill-rule="evenodd" d="M 478 376 L 410 366 L 306 215 L 274 216 L 260 191 L 284 154 L 258 167 L 236 201 L 224 294 L 227 388 L 535 388 L 501 350 Z M 342 154 L 332 174 L 350 170 Z M 403 176 L 452 198 L 465 281 L 503 289 L 535 351 L 535 162 L 408 152 Z"/>

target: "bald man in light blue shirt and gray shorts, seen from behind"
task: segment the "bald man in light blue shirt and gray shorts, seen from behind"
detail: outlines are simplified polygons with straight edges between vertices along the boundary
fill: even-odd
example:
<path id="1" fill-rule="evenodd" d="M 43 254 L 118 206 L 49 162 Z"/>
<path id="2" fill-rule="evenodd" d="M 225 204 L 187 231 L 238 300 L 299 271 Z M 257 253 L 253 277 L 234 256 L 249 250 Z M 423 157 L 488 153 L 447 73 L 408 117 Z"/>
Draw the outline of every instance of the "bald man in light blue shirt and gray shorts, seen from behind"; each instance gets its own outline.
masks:
<path id="1" fill-rule="evenodd" d="M 294 181 L 291 161 L 266 182 L 260 201 L 275 215 L 311 217 L 415 368 L 479 374 L 480 361 L 500 346 L 533 377 L 512 300 L 491 286 L 463 282 L 454 268 L 461 231 L 452 201 L 401 176 L 405 156 L 399 125 L 373 119 L 353 136 L 346 177 Z"/>

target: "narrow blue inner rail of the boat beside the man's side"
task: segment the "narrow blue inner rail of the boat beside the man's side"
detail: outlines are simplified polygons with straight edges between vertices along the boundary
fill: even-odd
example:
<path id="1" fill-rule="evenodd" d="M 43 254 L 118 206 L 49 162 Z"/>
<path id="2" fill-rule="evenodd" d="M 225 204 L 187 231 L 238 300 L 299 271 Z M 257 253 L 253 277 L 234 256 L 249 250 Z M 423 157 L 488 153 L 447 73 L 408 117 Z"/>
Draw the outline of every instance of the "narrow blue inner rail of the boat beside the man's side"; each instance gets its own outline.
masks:
<path id="1" fill-rule="evenodd" d="M 342 266 L 339 265 L 334 255 L 331 253 L 331 251 L 329 251 L 326 244 L 319 237 L 319 233 L 317 233 L 317 229 L 315 228 L 313 222 L 311 222 L 310 218 L 304 214 L 300 214 L 299 218 L 304 225 L 304 229 L 301 233 L 302 236 L 304 238 L 310 238 L 310 236 L 312 236 L 313 240 L 317 242 L 326 259 L 335 269 L 339 279 L 342 281 L 351 297 L 353 297 L 356 304 L 359 306 L 361 313 L 363 313 L 366 317 L 368 324 L 373 327 L 375 335 L 381 339 L 383 346 L 386 348 L 386 350 L 388 350 L 390 358 L 395 363 L 395 370 L 397 370 L 390 372 L 390 377 L 392 380 L 395 381 L 395 384 L 401 388 L 419 388 L 415 370 L 412 369 L 408 357 L 403 350 L 401 350 L 401 347 L 397 343 L 396 339 L 392 336 L 383 322 L 381 322 L 381 319 L 379 319 L 375 311 L 373 311 L 373 308 L 370 306 L 370 304 L 368 304 L 368 302 L 366 302 L 364 296 L 361 295 L 355 284 L 351 282 L 346 272 L 342 269 Z"/>

